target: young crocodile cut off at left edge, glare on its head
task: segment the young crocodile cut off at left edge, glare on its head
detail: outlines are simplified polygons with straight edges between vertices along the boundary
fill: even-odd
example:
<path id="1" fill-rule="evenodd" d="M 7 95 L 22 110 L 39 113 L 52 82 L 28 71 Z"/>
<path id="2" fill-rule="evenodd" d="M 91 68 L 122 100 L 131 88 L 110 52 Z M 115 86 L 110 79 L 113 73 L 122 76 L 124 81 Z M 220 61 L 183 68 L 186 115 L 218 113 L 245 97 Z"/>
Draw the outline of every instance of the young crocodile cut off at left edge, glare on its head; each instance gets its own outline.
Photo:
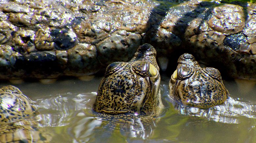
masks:
<path id="1" fill-rule="evenodd" d="M 0 141 L 50 142 L 51 137 L 38 130 L 32 101 L 14 86 L 0 89 Z"/>

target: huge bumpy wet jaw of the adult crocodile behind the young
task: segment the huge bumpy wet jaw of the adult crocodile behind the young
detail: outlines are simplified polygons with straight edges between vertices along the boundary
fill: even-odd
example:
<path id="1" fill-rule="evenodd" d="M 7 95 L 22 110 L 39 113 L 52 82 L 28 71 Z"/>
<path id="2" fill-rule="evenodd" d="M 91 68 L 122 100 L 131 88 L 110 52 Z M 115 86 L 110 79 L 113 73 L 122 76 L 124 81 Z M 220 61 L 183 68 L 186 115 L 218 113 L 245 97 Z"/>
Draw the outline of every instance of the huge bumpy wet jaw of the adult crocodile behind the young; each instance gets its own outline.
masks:
<path id="1" fill-rule="evenodd" d="M 256 3 L 0 1 L 0 79 L 56 78 L 126 62 L 141 43 L 256 79 Z M 229 65 L 229 66 L 227 66 Z"/>

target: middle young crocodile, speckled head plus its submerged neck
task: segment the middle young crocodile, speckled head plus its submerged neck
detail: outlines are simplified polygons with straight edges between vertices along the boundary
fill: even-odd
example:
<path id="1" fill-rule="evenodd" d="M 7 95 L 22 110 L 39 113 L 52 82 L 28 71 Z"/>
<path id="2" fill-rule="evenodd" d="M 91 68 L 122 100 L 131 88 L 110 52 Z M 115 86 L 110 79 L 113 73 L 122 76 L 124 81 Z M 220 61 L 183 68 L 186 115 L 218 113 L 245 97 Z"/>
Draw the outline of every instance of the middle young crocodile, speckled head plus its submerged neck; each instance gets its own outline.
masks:
<path id="1" fill-rule="evenodd" d="M 129 62 L 110 64 L 94 104 L 94 116 L 107 120 L 99 130 L 113 132 L 121 127 L 135 134 L 139 132 L 134 130 L 144 130 L 148 132 L 144 137 L 149 136 L 152 122 L 163 109 L 159 86 L 156 50 L 149 44 L 140 46 Z"/>

